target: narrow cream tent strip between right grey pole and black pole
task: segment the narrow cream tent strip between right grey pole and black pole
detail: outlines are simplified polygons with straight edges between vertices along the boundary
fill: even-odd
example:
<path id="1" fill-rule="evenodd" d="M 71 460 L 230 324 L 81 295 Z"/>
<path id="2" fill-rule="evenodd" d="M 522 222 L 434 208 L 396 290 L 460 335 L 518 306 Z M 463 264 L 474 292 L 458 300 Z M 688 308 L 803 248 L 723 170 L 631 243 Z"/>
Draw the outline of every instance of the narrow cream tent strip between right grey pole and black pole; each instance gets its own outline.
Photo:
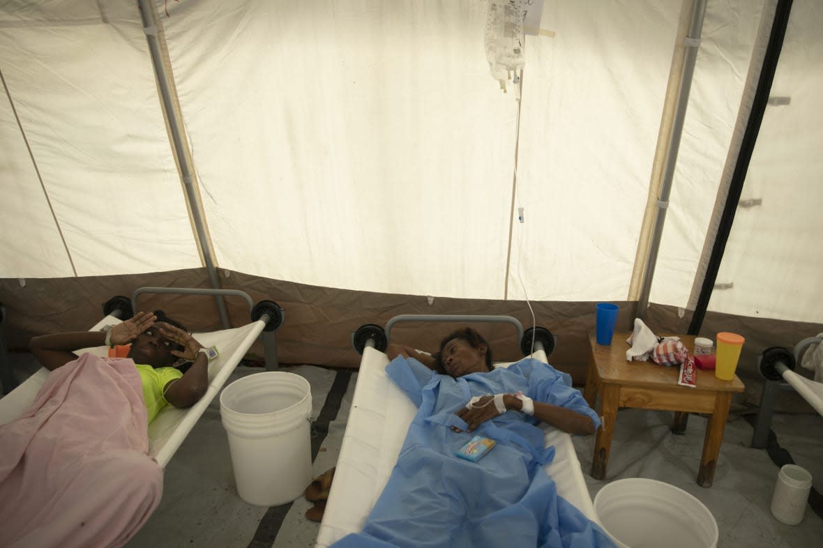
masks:
<path id="1" fill-rule="evenodd" d="M 685 308 L 718 196 L 763 2 L 708 2 L 650 300 Z M 732 22 L 730 22 L 732 21 Z"/>

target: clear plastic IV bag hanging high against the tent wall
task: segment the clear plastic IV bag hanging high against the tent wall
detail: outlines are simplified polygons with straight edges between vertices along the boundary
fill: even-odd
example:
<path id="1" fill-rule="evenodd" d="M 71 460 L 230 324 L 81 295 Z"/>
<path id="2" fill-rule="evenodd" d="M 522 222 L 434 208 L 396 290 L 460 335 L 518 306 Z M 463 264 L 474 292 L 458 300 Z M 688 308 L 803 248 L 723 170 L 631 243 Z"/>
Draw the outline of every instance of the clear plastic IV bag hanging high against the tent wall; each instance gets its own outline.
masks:
<path id="1" fill-rule="evenodd" d="M 506 81 L 514 77 L 518 82 L 518 71 L 523 68 L 523 7 L 525 0 L 490 0 L 486 16 L 486 59 L 491 76 L 500 81 L 506 91 Z"/>

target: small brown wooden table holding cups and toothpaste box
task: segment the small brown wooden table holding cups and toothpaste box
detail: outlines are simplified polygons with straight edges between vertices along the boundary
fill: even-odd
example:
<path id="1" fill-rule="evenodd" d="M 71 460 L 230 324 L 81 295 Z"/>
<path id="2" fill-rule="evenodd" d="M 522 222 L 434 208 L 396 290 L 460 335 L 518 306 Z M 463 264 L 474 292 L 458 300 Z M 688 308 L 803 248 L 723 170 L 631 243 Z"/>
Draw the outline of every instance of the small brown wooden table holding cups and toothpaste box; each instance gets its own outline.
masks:
<path id="1" fill-rule="evenodd" d="M 630 335 L 628 332 L 616 332 L 611 346 L 601 346 L 595 341 L 593 332 L 588 334 L 592 354 L 588 362 L 584 397 L 588 405 L 596 409 L 599 392 L 600 407 L 597 412 L 602 419 L 594 439 L 592 477 L 596 480 L 606 477 L 618 407 L 676 411 L 676 425 L 683 420 L 685 413 L 709 413 L 711 418 L 706 426 L 697 483 L 710 487 L 714 481 L 732 392 L 743 392 L 743 383 L 737 375 L 730 381 L 723 381 L 714 376 L 714 371 L 698 370 L 696 388 L 680 386 L 677 384 L 680 374 L 678 366 L 663 367 L 650 360 L 625 360 L 625 351 L 630 348 L 625 340 Z M 694 349 L 694 336 L 678 337 L 689 351 Z"/>

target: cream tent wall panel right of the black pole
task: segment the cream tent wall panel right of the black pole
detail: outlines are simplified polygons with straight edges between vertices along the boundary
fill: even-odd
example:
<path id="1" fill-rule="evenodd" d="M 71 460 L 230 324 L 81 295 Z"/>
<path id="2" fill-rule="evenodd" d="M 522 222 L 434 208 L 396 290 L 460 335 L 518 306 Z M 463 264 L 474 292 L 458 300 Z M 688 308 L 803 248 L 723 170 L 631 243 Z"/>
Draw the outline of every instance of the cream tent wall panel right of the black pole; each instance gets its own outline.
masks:
<path id="1" fill-rule="evenodd" d="M 823 10 L 793 2 L 766 108 L 709 310 L 823 322 Z M 802 138 L 801 138 L 802 136 Z M 813 333 L 812 333 L 813 334 Z"/>

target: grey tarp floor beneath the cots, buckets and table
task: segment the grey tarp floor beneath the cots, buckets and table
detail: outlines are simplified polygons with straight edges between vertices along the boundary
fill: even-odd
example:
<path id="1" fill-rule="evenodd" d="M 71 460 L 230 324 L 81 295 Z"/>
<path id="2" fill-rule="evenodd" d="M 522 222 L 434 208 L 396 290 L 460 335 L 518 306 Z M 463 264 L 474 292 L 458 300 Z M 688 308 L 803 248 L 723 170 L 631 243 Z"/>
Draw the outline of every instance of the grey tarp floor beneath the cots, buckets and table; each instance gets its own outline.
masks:
<path id="1" fill-rule="evenodd" d="M 31 371 L 30 355 L 12 354 L 17 376 Z M 315 366 L 284 368 L 305 376 L 312 385 L 312 417 L 320 417 L 314 432 L 319 444 L 314 460 L 317 476 L 337 461 L 346 417 L 356 383 L 356 373 Z M 231 380 L 261 369 L 239 367 Z M 336 416 L 328 416 L 327 394 L 335 383 L 346 388 Z M 342 390 L 338 391 L 342 392 Z M 339 394 L 338 394 L 339 395 Z M 331 400 L 332 398 L 330 398 Z M 336 406 L 332 406 L 337 409 Z M 722 548 L 738 546 L 807 548 L 823 546 L 823 519 L 807 508 L 797 526 L 783 525 L 770 513 L 770 502 L 779 468 L 763 449 L 749 447 L 752 427 L 742 416 L 730 416 L 723 437 L 714 485 L 695 483 L 703 445 L 706 419 L 690 415 L 684 435 L 669 432 L 672 414 L 665 411 L 618 412 L 607 479 L 588 476 L 593 437 L 575 437 L 574 447 L 583 467 L 592 498 L 609 481 L 647 477 L 667 481 L 700 499 L 714 514 Z M 776 413 L 772 428 L 780 446 L 794 461 L 811 471 L 817 490 L 823 490 L 823 417 L 812 414 Z M 328 432 L 326 432 L 328 430 Z M 305 511 L 311 506 L 303 497 L 271 509 L 244 503 L 237 495 L 226 432 L 220 420 L 219 399 L 188 435 L 165 470 L 163 499 L 146 525 L 128 542 L 128 548 L 165 546 L 314 546 L 319 524 Z"/>

